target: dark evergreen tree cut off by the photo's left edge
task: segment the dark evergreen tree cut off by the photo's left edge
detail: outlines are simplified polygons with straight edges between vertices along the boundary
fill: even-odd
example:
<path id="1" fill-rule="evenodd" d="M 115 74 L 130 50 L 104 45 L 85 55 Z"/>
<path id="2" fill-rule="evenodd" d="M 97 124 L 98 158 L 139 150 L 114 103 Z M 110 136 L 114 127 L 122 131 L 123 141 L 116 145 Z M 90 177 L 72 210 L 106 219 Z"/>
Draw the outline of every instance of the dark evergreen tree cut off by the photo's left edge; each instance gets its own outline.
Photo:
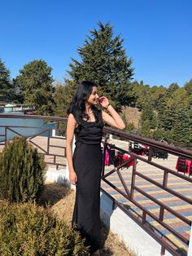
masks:
<path id="1" fill-rule="evenodd" d="M 10 71 L 0 59 L 0 102 L 7 103 L 15 100 L 15 86 L 11 82 Z"/>

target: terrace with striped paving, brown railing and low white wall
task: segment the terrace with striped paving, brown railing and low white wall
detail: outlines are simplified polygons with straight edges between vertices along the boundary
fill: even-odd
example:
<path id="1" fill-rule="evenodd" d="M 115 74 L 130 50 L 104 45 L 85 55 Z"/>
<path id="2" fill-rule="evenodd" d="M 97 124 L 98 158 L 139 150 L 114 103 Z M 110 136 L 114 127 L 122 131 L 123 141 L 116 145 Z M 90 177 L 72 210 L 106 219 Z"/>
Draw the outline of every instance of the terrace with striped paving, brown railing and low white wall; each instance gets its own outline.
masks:
<path id="1" fill-rule="evenodd" d="M 7 119 L 9 124 L 6 124 Z M 20 126 L 21 119 L 28 125 Z M 51 126 L 32 126 L 27 120 L 43 120 Z M 3 114 L 0 121 L 3 124 L 0 126 L 0 148 L 13 136 L 25 135 L 45 155 L 49 166 L 46 178 L 68 182 L 65 130 L 60 128 L 67 118 Z M 116 139 L 105 142 L 103 137 L 103 160 L 106 151 L 111 160 L 107 166 L 103 161 L 103 222 L 138 254 L 190 255 L 192 176 L 177 172 L 176 165 L 178 157 L 191 160 L 192 152 L 107 127 L 105 135 L 116 136 Z M 130 141 L 145 144 L 148 156 L 131 152 Z M 111 144 L 115 144 L 116 152 L 132 158 L 116 164 L 109 150 Z M 168 159 L 153 157 L 155 150 L 167 152 Z M 130 162 L 133 165 L 127 168 Z"/>

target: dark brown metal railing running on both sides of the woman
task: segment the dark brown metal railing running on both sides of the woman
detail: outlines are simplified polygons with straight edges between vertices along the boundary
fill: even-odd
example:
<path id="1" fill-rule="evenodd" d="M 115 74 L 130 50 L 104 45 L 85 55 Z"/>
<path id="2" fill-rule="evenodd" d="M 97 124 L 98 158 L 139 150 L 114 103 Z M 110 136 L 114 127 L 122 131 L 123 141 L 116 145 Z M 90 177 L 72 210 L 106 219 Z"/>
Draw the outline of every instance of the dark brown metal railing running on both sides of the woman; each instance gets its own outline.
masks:
<path id="1" fill-rule="evenodd" d="M 27 116 L 27 115 L 0 115 L 1 118 L 26 118 L 26 119 L 43 119 L 44 121 L 55 121 L 57 123 L 55 130 L 59 130 L 64 132 L 64 129 L 59 128 L 59 123 L 65 123 L 67 121 L 67 118 L 62 117 L 44 117 L 44 116 Z M 63 159 L 66 158 L 65 153 L 65 145 L 64 137 L 55 137 L 55 136 L 48 136 L 46 139 L 44 138 L 44 147 L 41 146 L 41 141 L 39 141 L 39 138 L 47 131 L 52 130 L 53 128 L 45 128 L 45 127 L 36 127 L 36 126 L 0 126 L 0 128 L 4 129 L 4 133 L 0 135 L 0 137 L 3 137 L 4 140 L 0 145 L 5 145 L 7 143 L 7 133 L 12 132 L 16 136 L 21 136 L 20 132 L 18 132 L 18 128 L 24 128 L 24 129 L 33 129 L 33 128 L 41 128 L 41 132 L 39 132 L 36 135 L 31 135 L 28 137 L 28 141 L 30 143 L 33 143 L 35 147 L 39 149 L 39 152 L 43 153 L 45 156 L 53 157 L 53 161 L 47 160 L 46 163 L 48 165 L 55 165 L 56 167 L 59 166 L 65 166 L 66 164 L 57 161 L 58 157 L 63 157 Z M 172 155 L 175 155 L 177 157 L 185 157 L 187 159 L 192 159 L 192 151 L 185 149 L 185 148 L 177 148 L 173 145 L 160 143 L 158 141 L 152 140 L 152 139 L 146 139 L 141 136 L 137 135 L 130 135 L 127 132 L 119 131 L 111 128 L 104 127 L 104 133 L 110 134 L 110 135 L 116 135 L 116 137 L 120 139 L 126 139 L 127 141 L 134 141 L 137 143 L 145 144 L 149 147 L 149 155 L 148 157 L 142 157 L 139 156 L 133 152 L 129 152 L 129 149 L 124 150 L 123 148 L 115 146 L 116 151 L 120 151 L 123 154 L 128 154 L 131 159 L 128 161 L 123 161 L 120 165 L 116 165 L 116 161 L 114 161 L 114 158 L 111 156 L 109 148 L 111 147 L 111 144 L 103 141 L 103 171 L 102 171 L 102 180 L 103 183 L 107 183 L 110 188 L 112 188 L 114 191 L 116 191 L 120 196 L 123 196 L 127 201 L 129 201 L 131 204 L 135 205 L 139 210 L 142 211 L 141 218 L 137 218 L 135 214 L 133 214 L 126 204 L 118 201 L 115 196 L 112 196 L 109 192 L 107 192 L 106 189 L 102 188 L 102 191 L 107 194 L 111 198 L 111 200 L 114 202 L 114 205 L 118 205 L 120 209 L 124 210 L 126 214 L 129 215 L 130 218 L 133 218 L 133 220 L 140 226 L 142 229 L 144 229 L 148 234 L 150 234 L 156 241 L 159 242 L 161 245 L 161 254 L 163 255 L 165 252 L 165 249 L 167 249 L 172 255 L 181 255 L 181 251 L 179 248 L 175 248 L 174 245 L 172 245 L 172 241 L 169 241 L 166 239 L 165 236 L 159 236 L 157 232 L 155 232 L 155 227 L 151 228 L 149 225 L 147 218 L 152 218 L 156 223 L 159 223 L 159 225 L 168 232 L 170 232 L 173 236 L 177 237 L 178 240 L 180 240 L 182 243 L 184 243 L 186 246 L 189 245 L 189 239 L 183 236 L 180 232 L 177 232 L 171 224 L 166 223 L 164 219 L 164 213 L 165 211 L 169 214 L 172 214 L 175 218 L 180 219 L 183 223 L 187 224 L 189 227 L 191 226 L 191 220 L 190 218 L 185 217 L 183 214 L 180 214 L 177 212 L 177 210 L 173 210 L 172 207 L 168 206 L 166 203 L 160 201 L 155 196 L 152 196 L 149 192 L 146 192 L 145 189 L 137 185 L 136 179 L 142 179 L 143 181 L 147 183 L 151 183 L 151 186 L 158 188 L 166 193 L 168 193 L 171 196 L 175 196 L 179 200 L 185 202 L 186 204 L 192 205 L 192 199 L 191 196 L 184 196 L 180 192 L 175 191 L 172 188 L 168 187 L 168 180 L 169 176 L 172 175 L 174 177 L 177 177 L 180 180 L 185 180 L 186 183 L 192 183 L 192 179 L 184 174 L 178 173 L 176 170 L 172 170 L 166 166 L 162 166 L 159 163 L 156 163 L 153 161 L 153 150 L 154 148 L 157 148 L 159 150 L 164 150 Z M 35 140 L 36 139 L 36 140 Z M 52 140 L 61 140 L 61 143 L 51 143 Z M 51 152 L 51 149 L 55 149 L 56 152 Z M 59 150 L 63 150 L 63 153 L 59 153 Z M 112 163 L 112 170 L 106 170 L 106 166 L 104 165 L 106 151 L 109 153 L 109 157 L 111 159 Z M 66 160 L 66 159 L 65 159 Z M 131 161 L 133 161 L 133 168 L 132 171 L 129 172 L 131 176 L 130 184 L 128 185 L 128 182 L 126 179 L 124 179 L 124 175 L 122 173 L 122 168 L 124 166 L 128 165 Z M 162 182 L 156 181 L 155 179 L 151 179 L 146 174 L 143 174 L 142 171 L 137 170 L 137 161 L 142 161 L 143 163 L 146 163 L 149 166 L 153 166 L 154 168 L 161 170 L 163 172 L 163 179 Z M 120 180 L 120 187 L 117 187 L 115 183 L 109 179 L 111 175 L 116 174 L 117 177 Z M 121 187 L 123 189 L 121 189 Z M 142 196 L 145 196 L 147 200 L 151 201 L 152 203 L 155 203 L 156 205 L 159 205 L 159 214 L 158 216 L 156 214 L 153 214 L 150 210 L 140 204 L 137 201 L 137 198 L 135 197 L 135 193 L 138 192 Z"/>

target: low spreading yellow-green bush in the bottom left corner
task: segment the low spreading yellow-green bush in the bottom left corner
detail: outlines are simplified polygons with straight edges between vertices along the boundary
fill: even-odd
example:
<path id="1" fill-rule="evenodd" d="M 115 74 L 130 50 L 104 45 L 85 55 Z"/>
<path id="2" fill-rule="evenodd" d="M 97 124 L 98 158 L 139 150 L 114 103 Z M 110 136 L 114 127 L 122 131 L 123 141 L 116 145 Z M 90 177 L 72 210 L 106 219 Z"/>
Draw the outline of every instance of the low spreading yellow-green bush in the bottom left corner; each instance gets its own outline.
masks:
<path id="1" fill-rule="evenodd" d="M 89 255 L 84 241 L 63 220 L 33 203 L 0 202 L 0 255 Z"/>

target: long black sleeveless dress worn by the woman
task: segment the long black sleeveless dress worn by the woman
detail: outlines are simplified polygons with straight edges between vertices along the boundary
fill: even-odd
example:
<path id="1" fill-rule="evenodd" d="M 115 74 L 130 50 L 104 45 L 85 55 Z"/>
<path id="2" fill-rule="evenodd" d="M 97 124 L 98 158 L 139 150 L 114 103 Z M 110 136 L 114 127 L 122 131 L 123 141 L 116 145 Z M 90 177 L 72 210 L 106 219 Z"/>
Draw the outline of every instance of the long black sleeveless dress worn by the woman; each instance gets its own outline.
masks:
<path id="1" fill-rule="evenodd" d="M 81 129 L 75 130 L 73 166 L 77 183 L 72 223 L 85 238 L 85 245 L 90 245 L 90 254 L 99 249 L 100 244 L 102 132 L 103 127 L 98 127 L 96 121 L 83 121 Z"/>

